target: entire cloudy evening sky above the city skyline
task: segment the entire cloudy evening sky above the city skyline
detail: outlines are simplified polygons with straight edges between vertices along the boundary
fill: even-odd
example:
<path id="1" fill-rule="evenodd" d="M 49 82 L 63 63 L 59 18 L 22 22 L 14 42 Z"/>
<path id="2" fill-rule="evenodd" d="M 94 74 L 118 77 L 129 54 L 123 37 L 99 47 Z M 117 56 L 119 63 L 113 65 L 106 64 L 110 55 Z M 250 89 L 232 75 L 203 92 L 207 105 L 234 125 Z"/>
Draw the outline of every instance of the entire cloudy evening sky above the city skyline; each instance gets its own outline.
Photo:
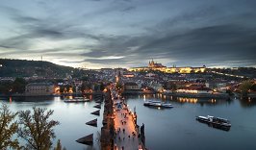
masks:
<path id="1" fill-rule="evenodd" d="M 1 0 L 0 58 L 256 67 L 255 0 Z"/>

